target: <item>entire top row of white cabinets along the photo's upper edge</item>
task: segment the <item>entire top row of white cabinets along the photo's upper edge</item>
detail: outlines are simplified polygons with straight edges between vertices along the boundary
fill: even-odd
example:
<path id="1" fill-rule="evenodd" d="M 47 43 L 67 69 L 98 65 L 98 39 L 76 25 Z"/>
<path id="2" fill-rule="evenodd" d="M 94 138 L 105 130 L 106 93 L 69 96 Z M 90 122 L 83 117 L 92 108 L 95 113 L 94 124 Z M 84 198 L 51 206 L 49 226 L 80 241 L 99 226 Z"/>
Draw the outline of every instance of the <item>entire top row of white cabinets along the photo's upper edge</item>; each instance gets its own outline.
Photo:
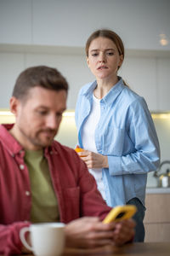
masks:
<path id="1" fill-rule="evenodd" d="M 127 49 L 162 50 L 169 9 L 168 0 L 0 0 L 0 43 L 83 47 L 91 32 L 107 27 Z"/>

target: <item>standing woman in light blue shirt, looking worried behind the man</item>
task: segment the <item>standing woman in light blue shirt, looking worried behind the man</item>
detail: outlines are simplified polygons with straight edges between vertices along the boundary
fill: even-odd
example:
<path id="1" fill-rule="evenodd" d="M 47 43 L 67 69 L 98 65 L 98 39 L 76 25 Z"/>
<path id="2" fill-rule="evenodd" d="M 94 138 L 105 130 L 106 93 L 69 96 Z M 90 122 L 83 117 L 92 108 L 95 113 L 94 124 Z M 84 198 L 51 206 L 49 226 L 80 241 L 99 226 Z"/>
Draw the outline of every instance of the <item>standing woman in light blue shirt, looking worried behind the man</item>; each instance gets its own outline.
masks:
<path id="1" fill-rule="evenodd" d="M 130 90 L 117 71 L 122 39 L 110 30 L 94 32 L 86 44 L 87 63 L 95 76 L 79 92 L 76 108 L 78 153 L 110 207 L 133 204 L 136 235 L 144 241 L 147 172 L 159 166 L 156 130 L 144 98 Z"/>

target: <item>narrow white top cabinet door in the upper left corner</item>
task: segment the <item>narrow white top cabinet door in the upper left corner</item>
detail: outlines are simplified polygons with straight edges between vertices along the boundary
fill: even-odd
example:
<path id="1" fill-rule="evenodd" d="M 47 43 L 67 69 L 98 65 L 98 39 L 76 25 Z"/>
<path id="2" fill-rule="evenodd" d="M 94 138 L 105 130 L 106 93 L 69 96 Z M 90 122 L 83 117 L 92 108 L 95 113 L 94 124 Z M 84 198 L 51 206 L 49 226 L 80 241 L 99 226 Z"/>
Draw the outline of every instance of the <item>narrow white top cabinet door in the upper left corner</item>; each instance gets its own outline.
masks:
<path id="1" fill-rule="evenodd" d="M 0 1 L 0 44 L 31 44 L 31 0 Z"/>

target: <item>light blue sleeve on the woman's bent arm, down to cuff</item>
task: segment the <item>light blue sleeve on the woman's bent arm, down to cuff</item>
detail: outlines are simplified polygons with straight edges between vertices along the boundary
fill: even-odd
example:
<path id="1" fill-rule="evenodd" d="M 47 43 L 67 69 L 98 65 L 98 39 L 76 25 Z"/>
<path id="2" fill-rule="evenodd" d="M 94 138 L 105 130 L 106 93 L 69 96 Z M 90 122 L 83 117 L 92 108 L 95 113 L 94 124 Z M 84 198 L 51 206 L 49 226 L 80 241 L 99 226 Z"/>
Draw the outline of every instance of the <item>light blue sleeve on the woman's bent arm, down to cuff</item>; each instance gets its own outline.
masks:
<path id="1" fill-rule="evenodd" d="M 160 148 L 144 98 L 140 97 L 128 107 L 126 130 L 128 139 L 133 143 L 133 151 L 129 150 L 122 156 L 108 155 L 110 175 L 155 171 L 160 163 Z"/>

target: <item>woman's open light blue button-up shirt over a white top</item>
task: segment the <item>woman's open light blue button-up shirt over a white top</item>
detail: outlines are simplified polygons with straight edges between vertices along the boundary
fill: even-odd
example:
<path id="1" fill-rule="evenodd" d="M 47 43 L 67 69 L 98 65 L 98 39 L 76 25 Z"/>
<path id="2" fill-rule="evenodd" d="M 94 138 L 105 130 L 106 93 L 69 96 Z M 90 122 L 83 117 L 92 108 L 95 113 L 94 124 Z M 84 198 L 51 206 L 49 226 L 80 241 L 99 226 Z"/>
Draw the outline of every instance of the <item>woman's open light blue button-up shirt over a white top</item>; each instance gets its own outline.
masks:
<path id="1" fill-rule="evenodd" d="M 78 143 L 82 145 L 82 125 L 93 104 L 94 83 L 82 87 L 77 98 Z M 99 154 L 108 156 L 109 168 L 102 169 L 106 202 L 126 204 L 138 197 L 144 205 L 147 172 L 160 163 L 156 129 L 144 98 L 123 84 L 115 84 L 100 101 L 100 119 L 95 129 Z"/>

